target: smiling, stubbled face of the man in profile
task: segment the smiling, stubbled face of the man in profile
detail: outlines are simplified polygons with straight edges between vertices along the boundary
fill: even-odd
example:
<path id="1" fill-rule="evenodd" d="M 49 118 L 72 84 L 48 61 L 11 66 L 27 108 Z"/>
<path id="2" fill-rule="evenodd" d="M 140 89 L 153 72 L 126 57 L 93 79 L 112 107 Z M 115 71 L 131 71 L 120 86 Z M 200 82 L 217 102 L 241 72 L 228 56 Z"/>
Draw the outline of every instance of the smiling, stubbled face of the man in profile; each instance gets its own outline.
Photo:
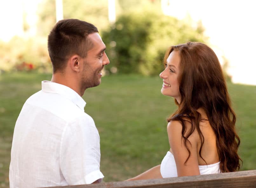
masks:
<path id="1" fill-rule="evenodd" d="M 102 77 L 101 71 L 104 65 L 109 64 L 109 59 L 105 53 L 106 46 L 99 34 L 89 34 L 88 40 L 93 44 L 93 47 L 87 51 L 87 55 L 83 59 L 82 82 L 84 89 L 99 85 Z"/>

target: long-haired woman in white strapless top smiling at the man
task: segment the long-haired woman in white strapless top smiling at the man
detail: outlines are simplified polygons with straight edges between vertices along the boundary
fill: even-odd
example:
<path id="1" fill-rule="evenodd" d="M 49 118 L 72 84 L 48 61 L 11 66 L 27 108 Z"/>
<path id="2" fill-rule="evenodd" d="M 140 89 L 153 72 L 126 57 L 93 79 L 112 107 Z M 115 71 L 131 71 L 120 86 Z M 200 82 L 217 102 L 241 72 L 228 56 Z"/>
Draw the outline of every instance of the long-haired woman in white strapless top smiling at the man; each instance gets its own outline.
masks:
<path id="1" fill-rule="evenodd" d="M 188 42 L 172 46 L 164 62 L 161 92 L 178 105 L 168 118 L 171 149 L 161 165 L 129 180 L 239 170 L 236 117 L 216 54 L 205 44 Z"/>

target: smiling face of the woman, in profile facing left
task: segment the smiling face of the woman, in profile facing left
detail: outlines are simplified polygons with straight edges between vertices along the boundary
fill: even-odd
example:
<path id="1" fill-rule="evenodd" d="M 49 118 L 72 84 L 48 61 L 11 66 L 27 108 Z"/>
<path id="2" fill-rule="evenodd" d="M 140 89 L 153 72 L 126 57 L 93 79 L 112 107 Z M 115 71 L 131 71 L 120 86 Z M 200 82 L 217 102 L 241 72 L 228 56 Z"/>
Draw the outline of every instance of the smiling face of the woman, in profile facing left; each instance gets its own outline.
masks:
<path id="1" fill-rule="evenodd" d="M 172 51 L 167 58 L 165 64 L 165 70 L 160 73 L 160 78 L 163 78 L 163 87 L 161 93 L 163 95 L 174 97 L 178 103 L 180 103 L 179 93 L 179 63 L 180 56 L 179 51 Z"/>

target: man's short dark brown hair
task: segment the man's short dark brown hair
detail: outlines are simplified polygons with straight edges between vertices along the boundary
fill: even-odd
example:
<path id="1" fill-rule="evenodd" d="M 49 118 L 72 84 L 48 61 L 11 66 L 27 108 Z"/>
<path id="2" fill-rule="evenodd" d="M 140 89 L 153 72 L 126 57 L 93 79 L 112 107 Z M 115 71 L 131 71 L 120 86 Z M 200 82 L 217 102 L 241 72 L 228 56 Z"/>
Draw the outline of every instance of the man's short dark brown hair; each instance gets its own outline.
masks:
<path id="1" fill-rule="evenodd" d="M 63 71 L 71 55 L 86 57 L 92 44 L 87 36 L 98 33 L 91 23 L 77 19 L 65 19 L 56 23 L 48 35 L 48 52 L 52 62 L 53 73 Z"/>

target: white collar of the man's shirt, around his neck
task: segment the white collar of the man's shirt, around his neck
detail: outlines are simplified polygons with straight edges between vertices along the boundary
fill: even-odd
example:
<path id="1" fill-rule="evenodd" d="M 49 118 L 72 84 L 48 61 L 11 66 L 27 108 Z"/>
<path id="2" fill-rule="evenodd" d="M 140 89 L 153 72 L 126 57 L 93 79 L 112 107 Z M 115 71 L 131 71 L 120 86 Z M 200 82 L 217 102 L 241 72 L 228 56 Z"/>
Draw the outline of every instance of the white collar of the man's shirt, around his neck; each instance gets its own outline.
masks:
<path id="1" fill-rule="evenodd" d="M 71 100 L 81 110 L 84 111 L 86 102 L 80 95 L 78 95 L 76 91 L 72 90 L 70 87 L 51 81 L 42 81 L 42 91 L 63 95 L 65 98 Z"/>

